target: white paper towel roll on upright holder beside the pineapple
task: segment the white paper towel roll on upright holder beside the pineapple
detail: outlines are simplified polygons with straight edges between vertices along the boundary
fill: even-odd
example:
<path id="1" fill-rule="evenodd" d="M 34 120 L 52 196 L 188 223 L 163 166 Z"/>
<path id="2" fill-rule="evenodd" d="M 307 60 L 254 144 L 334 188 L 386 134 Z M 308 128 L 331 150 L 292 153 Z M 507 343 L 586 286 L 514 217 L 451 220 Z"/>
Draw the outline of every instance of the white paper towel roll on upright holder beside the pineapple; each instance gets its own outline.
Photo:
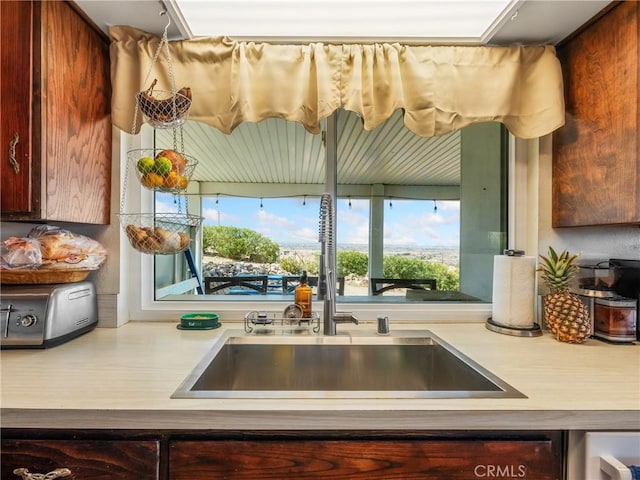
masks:
<path id="1" fill-rule="evenodd" d="M 500 325 L 532 328 L 535 318 L 536 257 L 493 258 L 493 315 Z"/>

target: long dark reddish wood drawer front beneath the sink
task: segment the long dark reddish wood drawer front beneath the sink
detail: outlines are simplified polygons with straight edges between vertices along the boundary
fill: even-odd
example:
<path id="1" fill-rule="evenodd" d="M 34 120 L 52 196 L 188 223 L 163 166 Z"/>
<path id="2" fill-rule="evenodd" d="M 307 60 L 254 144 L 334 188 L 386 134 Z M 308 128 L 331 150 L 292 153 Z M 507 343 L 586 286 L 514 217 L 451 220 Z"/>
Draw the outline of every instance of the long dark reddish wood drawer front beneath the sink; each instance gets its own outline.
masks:
<path id="1" fill-rule="evenodd" d="M 174 441 L 172 480 L 562 478 L 551 440 Z"/>

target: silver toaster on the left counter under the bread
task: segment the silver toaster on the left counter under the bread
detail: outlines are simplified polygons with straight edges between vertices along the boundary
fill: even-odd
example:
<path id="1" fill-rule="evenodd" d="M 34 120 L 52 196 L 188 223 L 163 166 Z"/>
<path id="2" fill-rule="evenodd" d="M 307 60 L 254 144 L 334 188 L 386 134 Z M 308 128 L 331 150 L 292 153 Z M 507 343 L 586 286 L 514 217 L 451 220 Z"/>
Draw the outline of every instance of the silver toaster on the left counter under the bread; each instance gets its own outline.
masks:
<path id="1" fill-rule="evenodd" d="M 3 285 L 0 348 L 48 348 L 98 324 L 98 301 L 90 281 L 52 285 Z"/>

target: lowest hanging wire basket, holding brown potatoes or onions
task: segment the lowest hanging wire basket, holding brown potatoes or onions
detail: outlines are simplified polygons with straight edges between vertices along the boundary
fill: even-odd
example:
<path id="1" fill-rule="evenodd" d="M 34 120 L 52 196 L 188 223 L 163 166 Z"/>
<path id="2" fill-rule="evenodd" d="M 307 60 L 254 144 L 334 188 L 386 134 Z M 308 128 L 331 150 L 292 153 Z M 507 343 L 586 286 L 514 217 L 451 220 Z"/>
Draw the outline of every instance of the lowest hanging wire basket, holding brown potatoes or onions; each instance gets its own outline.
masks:
<path id="1" fill-rule="evenodd" d="M 142 253 L 172 255 L 189 248 L 202 217 L 186 213 L 121 213 L 131 246 Z"/>

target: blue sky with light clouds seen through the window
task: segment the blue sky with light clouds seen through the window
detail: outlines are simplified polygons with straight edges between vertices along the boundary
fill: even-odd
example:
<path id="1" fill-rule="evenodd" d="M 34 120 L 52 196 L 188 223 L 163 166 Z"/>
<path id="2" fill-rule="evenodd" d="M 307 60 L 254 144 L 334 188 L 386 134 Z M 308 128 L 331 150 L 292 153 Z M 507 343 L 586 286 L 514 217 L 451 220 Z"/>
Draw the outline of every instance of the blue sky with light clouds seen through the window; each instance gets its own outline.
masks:
<path id="1" fill-rule="evenodd" d="M 217 201 L 217 203 L 216 203 Z M 369 202 L 339 199 L 337 243 L 368 243 Z M 391 202 L 391 205 L 390 205 Z M 172 200 L 161 200 L 157 211 L 171 211 Z M 260 204 L 262 203 L 262 207 Z M 318 242 L 320 201 L 312 197 L 203 199 L 203 225 L 255 230 L 280 244 Z M 437 211 L 434 211 L 437 206 Z M 456 247 L 460 244 L 460 202 L 432 200 L 384 201 L 384 244 L 398 247 Z"/>

